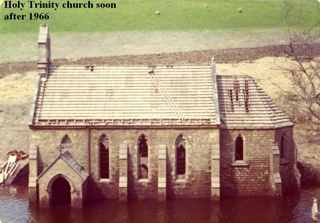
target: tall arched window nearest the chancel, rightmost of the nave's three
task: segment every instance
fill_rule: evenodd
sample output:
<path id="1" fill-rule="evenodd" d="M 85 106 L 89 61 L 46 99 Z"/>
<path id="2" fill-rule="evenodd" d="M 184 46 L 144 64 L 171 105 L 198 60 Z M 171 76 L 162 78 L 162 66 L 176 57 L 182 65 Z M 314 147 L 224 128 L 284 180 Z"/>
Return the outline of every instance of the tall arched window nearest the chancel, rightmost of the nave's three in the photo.
<path id="1" fill-rule="evenodd" d="M 178 178 L 186 174 L 186 145 L 182 134 L 176 139 L 176 173 Z"/>

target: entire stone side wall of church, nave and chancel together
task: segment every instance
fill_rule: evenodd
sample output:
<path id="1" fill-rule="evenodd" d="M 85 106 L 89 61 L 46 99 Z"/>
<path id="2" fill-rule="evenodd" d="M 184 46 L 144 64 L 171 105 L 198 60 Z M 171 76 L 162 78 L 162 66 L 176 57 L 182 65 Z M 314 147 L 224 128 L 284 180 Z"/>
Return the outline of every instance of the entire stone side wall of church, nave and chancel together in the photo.
<path id="1" fill-rule="evenodd" d="M 287 135 L 285 159 L 280 159 L 279 165 L 282 191 L 287 192 L 299 188 L 300 179 L 295 168 L 293 127 L 276 130 L 34 129 L 31 130 L 30 144 L 38 147 L 38 174 L 40 174 L 56 159 L 59 154 L 57 146 L 67 134 L 71 143 L 65 149 L 90 175 L 87 185 L 87 196 L 90 200 L 119 199 L 121 196 L 123 199 L 162 200 L 164 197 L 174 199 L 274 196 L 270 166 L 272 145 L 281 145 L 284 133 Z M 103 134 L 107 136 L 109 142 L 108 179 L 99 177 L 99 138 Z M 139 179 L 138 176 L 138 139 L 142 134 L 148 142 L 147 179 Z M 180 134 L 183 135 L 186 149 L 186 173 L 182 177 L 176 174 L 175 141 Z M 234 142 L 239 134 L 244 140 L 242 163 L 235 162 L 234 159 Z M 119 159 L 121 145 L 127 148 L 126 159 L 123 161 Z M 162 148 L 162 154 L 159 154 L 159 148 Z M 160 161 L 159 157 L 162 157 L 163 161 Z M 163 165 L 166 167 L 163 168 L 166 169 L 165 173 L 159 169 Z M 122 182 L 119 180 L 120 177 Z M 119 187 L 121 184 L 125 187 Z M 43 187 L 39 189 L 43 190 Z"/>

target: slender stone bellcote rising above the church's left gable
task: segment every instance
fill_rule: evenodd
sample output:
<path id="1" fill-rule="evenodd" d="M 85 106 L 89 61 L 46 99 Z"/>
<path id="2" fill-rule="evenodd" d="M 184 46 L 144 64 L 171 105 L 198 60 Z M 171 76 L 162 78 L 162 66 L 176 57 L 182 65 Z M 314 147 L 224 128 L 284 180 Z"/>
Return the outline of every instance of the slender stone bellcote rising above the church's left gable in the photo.
<path id="1" fill-rule="evenodd" d="M 41 24 L 38 39 L 38 74 L 47 77 L 51 61 L 49 26 Z"/>

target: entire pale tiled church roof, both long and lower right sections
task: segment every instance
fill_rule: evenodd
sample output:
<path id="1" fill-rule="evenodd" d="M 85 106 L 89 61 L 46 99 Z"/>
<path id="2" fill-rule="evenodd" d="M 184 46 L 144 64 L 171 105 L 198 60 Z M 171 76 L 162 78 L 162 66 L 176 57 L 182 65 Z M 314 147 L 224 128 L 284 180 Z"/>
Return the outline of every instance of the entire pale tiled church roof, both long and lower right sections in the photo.
<path id="1" fill-rule="evenodd" d="M 210 66 L 51 67 L 33 116 L 33 126 L 219 124 L 293 125 L 253 78 Z"/>

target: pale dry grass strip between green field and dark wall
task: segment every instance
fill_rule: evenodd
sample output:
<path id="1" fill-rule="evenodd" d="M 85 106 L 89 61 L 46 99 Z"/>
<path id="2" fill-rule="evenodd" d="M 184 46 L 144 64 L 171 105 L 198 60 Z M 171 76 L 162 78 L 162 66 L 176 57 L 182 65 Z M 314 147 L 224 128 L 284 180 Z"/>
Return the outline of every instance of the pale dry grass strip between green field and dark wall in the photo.
<path id="1" fill-rule="evenodd" d="M 50 26 L 51 29 L 51 26 Z M 0 63 L 37 60 L 38 32 L 0 35 Z M 285 44 L 281 30 L 51 32 L 52 59 Z M 210 58 L 213 55 L 210 56 Z"/>

